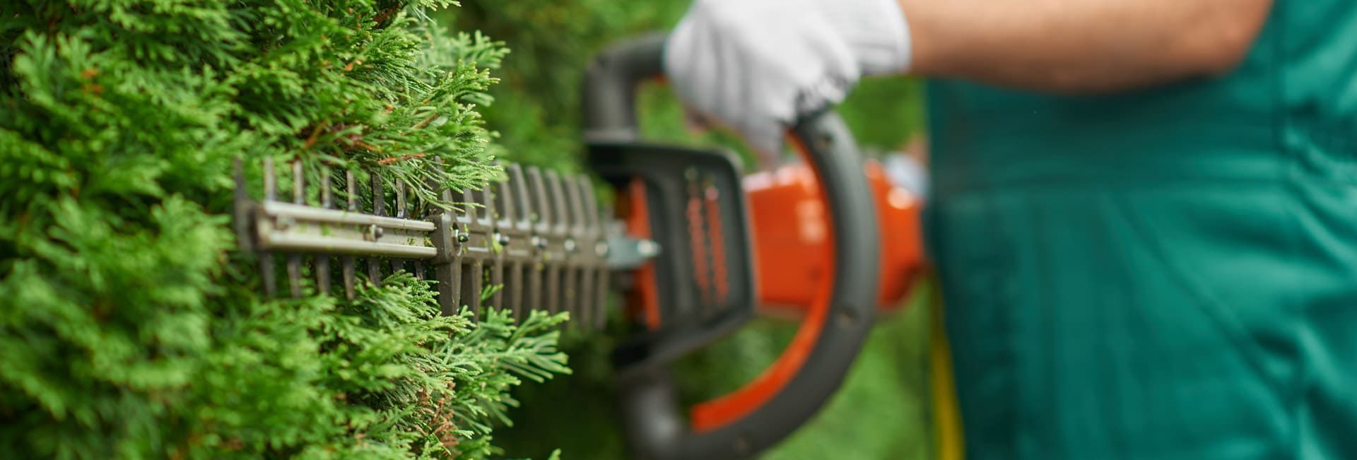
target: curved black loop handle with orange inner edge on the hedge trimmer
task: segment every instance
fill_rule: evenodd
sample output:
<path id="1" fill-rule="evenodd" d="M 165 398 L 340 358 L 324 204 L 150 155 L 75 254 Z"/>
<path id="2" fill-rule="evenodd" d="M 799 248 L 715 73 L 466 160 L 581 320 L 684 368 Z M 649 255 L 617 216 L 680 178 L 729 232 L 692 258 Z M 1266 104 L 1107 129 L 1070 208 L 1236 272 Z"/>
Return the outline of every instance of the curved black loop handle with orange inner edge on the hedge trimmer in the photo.
<path id="1" fill-rule="evenodd" d="M 635 94 L 664 75 L 664 34 L 616 45 L 586 71 L 586 140 L 636 141 Z M 820 180 L 830 217 L 832 284 L 806 309 L 795 338 L 759 379 L 699 404 L 684 421 L 668 362 L 619 369 L 620 408 L 638 459 L 740 459 L 776 444 L 807 421 L 843 383 L 875 309 L 878 227 L 863 159 L 833 111 L 803 117 L 791 133 Z M 752 250 L 752 248 L 746 248 Z"/>

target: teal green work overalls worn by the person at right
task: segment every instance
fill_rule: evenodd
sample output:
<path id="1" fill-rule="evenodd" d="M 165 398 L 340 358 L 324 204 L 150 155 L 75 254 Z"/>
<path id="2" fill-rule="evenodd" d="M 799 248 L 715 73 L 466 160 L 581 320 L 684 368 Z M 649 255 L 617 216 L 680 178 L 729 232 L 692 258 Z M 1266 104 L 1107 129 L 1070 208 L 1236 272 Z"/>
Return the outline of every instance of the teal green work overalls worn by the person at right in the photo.
<path id="1" fill-rule="evenodd" d="M 1219 79 L 930 107 L 969 459 L 1357 459 L 1357 3 Z"/>

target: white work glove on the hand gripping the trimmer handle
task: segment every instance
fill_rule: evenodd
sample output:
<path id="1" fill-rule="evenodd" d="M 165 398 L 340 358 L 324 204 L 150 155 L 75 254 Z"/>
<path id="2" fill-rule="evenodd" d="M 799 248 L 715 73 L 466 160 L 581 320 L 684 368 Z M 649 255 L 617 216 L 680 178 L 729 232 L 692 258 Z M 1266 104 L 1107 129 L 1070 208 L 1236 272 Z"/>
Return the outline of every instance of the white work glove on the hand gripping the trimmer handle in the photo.
<path id="1" fill-rule="evenodd" d="M 908 71 L 909 52 L 896 0 L 695 0 L 665 72 L 696 121 L 737 130 L 773 167 L 798 117 L 862 76 Z"/>

